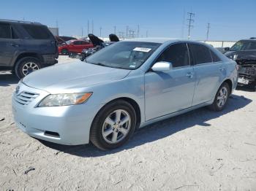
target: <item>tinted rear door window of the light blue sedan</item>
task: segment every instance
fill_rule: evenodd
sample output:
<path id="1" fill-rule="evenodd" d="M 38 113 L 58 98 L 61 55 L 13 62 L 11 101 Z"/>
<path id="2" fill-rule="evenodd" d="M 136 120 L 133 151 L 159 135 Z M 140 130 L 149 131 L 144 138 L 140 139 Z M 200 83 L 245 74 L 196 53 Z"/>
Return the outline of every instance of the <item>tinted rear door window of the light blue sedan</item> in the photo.
<path id="1" fill-rule="evenodd" d="M 190 44 L 193 57 L 195 59 L 195 64 L 200 63 L 211 63 L 211 52 L 208 47 L 205 47 L 200 44 Z"/>

